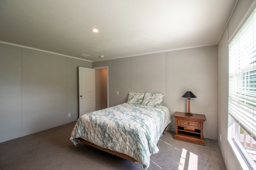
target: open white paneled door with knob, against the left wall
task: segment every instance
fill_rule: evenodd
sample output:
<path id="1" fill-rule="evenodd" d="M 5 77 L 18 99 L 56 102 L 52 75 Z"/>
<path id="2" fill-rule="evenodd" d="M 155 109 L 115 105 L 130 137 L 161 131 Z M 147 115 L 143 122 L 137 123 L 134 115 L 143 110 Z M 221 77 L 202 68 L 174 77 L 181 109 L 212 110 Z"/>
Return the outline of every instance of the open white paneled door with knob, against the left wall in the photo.
<path id="1" fill-rule="evenodd" d="M 95 70 L 78 68 L 79 76 L 79 117 L 95 111 Z"/>

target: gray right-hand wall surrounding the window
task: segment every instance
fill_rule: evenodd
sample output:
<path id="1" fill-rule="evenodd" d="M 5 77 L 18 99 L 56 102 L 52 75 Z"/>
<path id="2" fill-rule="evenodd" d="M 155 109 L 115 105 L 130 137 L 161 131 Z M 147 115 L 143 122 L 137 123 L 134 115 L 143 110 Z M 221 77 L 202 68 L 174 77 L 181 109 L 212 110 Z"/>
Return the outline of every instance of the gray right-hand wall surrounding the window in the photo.
<path id="1" fill-rule="evenodd" d="M 253 0 L 239 0 L 218 43 L 217 141 L 227 170 L 242 169 L 228 141 L 228 40 L 239 30 L 242 18 Z M 222 141 L 220 141 L 220 135 Z"/>

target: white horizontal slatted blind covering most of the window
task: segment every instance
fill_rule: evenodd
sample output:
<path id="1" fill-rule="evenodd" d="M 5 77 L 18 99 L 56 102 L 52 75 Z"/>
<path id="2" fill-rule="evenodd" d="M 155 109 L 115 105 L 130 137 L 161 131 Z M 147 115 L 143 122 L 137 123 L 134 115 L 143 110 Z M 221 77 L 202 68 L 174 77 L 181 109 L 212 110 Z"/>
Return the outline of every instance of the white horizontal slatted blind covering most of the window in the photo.
<path id="1" fill-rule="evenodd" d="M 229 44 L 229 114 L 256 139 L 255 10 Z"/>

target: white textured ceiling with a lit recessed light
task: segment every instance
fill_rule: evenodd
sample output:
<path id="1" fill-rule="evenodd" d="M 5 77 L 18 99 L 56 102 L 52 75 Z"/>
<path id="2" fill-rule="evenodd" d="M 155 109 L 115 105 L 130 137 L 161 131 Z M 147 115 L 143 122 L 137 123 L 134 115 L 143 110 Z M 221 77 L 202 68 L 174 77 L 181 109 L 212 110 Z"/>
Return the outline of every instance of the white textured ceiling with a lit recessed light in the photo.
<path id="1" fill-rule="evenodd" d="M 235 4 L 236 0 L 0 0 L 0 41 L 90 61 L 216 45 Z M 100 31 L 94 33 L 93 28 Z"/>

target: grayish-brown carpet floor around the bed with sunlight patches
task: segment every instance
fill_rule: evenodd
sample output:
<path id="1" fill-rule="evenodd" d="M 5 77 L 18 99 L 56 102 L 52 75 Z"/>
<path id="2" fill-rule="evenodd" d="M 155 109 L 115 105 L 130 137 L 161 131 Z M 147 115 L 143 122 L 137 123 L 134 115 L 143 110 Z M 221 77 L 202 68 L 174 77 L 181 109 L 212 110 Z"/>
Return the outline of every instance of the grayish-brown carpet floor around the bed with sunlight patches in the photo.
<path id="1" fill-rule="evenodd" d="M 0 143 L 1 170 L 143 170 L 84 143 L 69 140 L 75 122 Z M 148 170 L 225 170 L 216 140 L 205 146 L 174 140 L 166 131 L 158 141 L 159 152 L 150 156 Z"/>

